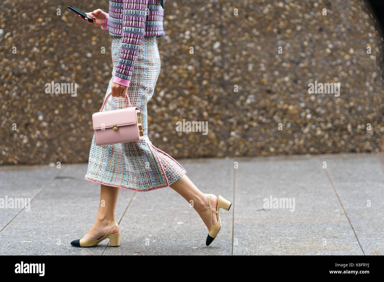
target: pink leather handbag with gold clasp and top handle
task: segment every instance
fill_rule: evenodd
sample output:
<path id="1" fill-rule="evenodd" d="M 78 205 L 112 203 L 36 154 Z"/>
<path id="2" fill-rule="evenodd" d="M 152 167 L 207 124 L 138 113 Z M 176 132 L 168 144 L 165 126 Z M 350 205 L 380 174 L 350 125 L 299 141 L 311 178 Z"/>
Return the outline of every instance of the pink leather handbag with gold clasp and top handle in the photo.
<path id="1" fill-rule="evenodd" d="M 96 144 L 108 145 L 142 140 L 144 137 L 139 108 L 131 107 L 131 101 L 126 95 L 125 108 L 106 111 L 106 103 L 111 95 L 112 93 L 109 93 L 105 98 L 100 111 L 92 115 Z"/>

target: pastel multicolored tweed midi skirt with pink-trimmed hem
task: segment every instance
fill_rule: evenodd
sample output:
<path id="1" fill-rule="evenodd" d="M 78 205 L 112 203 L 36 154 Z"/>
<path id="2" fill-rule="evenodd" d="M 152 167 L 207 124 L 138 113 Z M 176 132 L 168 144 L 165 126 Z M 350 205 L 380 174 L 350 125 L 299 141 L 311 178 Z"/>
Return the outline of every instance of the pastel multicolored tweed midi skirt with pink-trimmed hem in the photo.
<path id="1" fill-rule="evenodd" d="M 121 37 L 114 37 L 112 75 L 118 64 L 120 46 Z M 159 73 L 157 38 L 144 37 L 127 90 L 132 106 L 140 108 L 144 139 L 98 146 L 93 136 L 85 179 L 129 190 L 150 191 L 167 187 L 186 173 L 175 159 L 157 149 L 148 138 L 147 102 L 154 93 Z M 111 92 L 112 83 L 113 76 L 105 95 Z M 124 103 L 122 97 L 110 97 L 107 110 L 124 108 Z"/>

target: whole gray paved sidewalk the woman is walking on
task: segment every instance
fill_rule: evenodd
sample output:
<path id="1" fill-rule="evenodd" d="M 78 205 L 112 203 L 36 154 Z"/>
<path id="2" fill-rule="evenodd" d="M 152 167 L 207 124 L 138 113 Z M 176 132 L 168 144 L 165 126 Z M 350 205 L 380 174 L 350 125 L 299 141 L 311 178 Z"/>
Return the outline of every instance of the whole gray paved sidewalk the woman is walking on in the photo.
<path id="1" fill-rule="evenodd" d="M 234 162 L 238 168 L 234 168 Z M 323 168 L 326 162 L 326 169 Z M 384 169 L 379 154 L 181 160 L 205 193 L 232 200 L 211 246 L 199 216 L 169 187 L 121 189 L 121 245 L 76 248 L 94 222 L 99 185 L 86 164 L 0 167 L 0 198 L 31 198 L 30 210 L 0 208 L 2 255 L 383 255 Z M 293 208 L 264 199 L 295 200 Z M 291 210 L 291 211 L 290 211 Z"/>

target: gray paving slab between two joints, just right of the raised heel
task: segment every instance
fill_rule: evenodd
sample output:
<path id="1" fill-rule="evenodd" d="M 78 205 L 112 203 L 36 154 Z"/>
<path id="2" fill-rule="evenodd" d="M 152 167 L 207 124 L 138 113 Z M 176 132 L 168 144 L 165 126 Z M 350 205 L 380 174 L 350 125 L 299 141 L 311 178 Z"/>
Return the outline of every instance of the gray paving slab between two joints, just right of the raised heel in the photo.
<path id="1" fill-rule="evenodd" d="M 362 254 L 322 170 L 314 156 L 239 159 L 233 254 Z M 271 197 L 295 208 L 266 207 Z"/>

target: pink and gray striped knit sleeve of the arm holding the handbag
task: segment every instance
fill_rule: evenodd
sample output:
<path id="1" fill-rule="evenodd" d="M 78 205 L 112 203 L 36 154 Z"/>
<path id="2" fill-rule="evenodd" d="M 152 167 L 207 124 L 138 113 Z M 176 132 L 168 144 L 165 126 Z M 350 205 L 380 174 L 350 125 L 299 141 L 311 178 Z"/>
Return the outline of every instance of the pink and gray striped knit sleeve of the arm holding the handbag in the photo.
<path id="1" fill-rule="evenodd" d="M 121 49 L 113 82 L 129 86 L 144 37 L 148 0 L 124 0 Z"/>

